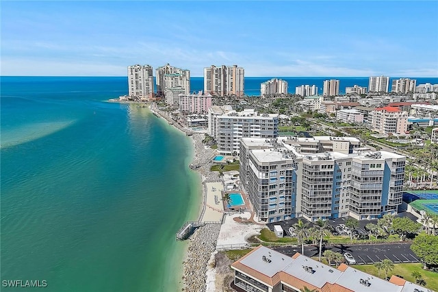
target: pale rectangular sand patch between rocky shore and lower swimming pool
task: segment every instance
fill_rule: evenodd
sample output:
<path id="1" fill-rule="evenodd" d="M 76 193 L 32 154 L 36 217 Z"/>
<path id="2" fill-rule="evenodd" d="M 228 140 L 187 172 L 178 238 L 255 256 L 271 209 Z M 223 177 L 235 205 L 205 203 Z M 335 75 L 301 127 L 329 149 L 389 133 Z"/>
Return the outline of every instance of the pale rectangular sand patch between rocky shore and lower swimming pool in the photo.
<path id="1" fill-rule="evenodd" d="M 224 204 L 222 202 L 222 191 L 224 186 L 222 183 L 205 183 L 207 191 L 205 212 L 201 222 L 207 221 L 222 221 L 224 215 Z"/>

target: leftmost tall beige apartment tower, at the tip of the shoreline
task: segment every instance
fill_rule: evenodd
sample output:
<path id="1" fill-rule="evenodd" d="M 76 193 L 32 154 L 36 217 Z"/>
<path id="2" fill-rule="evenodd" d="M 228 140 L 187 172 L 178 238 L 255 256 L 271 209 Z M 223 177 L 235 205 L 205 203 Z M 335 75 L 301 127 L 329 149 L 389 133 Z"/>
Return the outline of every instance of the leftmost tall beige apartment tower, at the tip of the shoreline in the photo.
<path id="1" fill-rule="evenodd" d="M 128 66 L 129 96 L 139 101 L 153 98 L 153 69 L 150 65 Z"/>

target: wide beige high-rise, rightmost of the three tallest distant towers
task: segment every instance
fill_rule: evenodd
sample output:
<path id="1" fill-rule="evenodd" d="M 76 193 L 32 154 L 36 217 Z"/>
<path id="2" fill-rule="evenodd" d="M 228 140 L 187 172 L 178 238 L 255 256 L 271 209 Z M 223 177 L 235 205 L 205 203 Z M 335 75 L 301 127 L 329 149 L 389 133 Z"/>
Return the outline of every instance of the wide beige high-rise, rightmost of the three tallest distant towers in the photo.
<path id="1" fill-rule="evenodd" d="M 204 92 L 218 96 L 244 96 L 244 75 L 244 68 L 237 65 L 205 67 Z"/>

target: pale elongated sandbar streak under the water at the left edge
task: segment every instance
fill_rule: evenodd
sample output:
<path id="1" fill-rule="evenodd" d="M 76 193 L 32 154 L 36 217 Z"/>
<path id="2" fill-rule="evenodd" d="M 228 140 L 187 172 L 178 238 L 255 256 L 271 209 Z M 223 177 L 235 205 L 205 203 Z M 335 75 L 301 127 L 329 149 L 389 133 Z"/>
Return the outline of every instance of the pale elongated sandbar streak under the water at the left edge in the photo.
<path id="1" fill-rule="evenodd" d="M 37 140 L 70 127 L 76 120 L 60 122 L 34 122 L 14 129 L 2 129 L 0 148 L 8 148 Z"/>

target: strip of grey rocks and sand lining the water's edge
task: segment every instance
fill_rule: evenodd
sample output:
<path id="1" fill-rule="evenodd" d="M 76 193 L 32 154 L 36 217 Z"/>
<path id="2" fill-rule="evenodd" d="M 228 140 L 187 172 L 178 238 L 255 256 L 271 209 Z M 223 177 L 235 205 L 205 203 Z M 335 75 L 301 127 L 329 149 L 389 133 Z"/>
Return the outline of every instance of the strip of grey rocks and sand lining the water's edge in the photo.
<path id="1" fill-rule="evenodd" d="M 200 176 L 201 189 L 198 191 L 198 194 L 201 194 L 201 204 L 198 204 L 197 208 L 197 221 L 201 221 L 203 220 L 207 204 L 205 183 L 222 182 L 218 174 L 209 171 L 215 150 L 205 148 L 201 136 L 203 133 L 197 133 L 181 126 L 181 124 L 170 118 L 165 112 L 154 107 L 153 104 L 151 104 L 150 109 L 155 116 L 164 118 L 170 126 L 190 137 L 192 141 L 193 152 L 190 169 Z M 207 270 L 211 255 L 216 251 L 216 243 L 221 226 L 222 224 L 205 224 L 205 226 L 197 228 L 192 237 L 190 237 L 188 244 L 184 247 L 183 265 L 181 265 L 181 272 L 179 273 L 181 279 L 179 291 L 206 291 Z"/>

